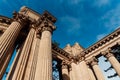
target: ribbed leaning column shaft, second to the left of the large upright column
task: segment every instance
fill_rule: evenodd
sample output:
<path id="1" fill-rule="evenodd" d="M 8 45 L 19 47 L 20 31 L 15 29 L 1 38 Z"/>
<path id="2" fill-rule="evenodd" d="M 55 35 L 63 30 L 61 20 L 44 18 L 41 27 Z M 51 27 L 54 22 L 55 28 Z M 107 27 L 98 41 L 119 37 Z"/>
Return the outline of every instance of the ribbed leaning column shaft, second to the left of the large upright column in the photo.
<path id="1" fill-rule="evenodd" d="M 13 74 L 12 80 L 23 80 L 24 78 L 24 74 L 25 74 L 25 70 L 26 70 L 26 66 L 28 63 L 28 58 L 31 50 L 31 45 L 34 38 L 34 33 L 35 33 L 35 29 L 31 28 L 26 38 L 26 41 L 24 43 L 23 49 L 21 51 L 21 55 L 19 57 L 17 66 L 15 68 L 15 72 L 14 74 L 11 73 Z"/>

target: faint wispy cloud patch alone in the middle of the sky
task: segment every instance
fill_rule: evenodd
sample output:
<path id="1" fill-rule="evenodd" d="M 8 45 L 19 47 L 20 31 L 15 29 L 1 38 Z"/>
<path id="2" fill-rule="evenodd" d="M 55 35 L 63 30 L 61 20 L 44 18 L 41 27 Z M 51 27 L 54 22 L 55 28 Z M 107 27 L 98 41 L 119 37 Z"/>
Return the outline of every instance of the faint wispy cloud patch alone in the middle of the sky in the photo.
<path id="1" fill-rule="evenodd" d="M 61 23 L 65 25 L 68 34 L 78 35 L 81 29 L 79 18 L 65 16 L 60 18 Z"/>

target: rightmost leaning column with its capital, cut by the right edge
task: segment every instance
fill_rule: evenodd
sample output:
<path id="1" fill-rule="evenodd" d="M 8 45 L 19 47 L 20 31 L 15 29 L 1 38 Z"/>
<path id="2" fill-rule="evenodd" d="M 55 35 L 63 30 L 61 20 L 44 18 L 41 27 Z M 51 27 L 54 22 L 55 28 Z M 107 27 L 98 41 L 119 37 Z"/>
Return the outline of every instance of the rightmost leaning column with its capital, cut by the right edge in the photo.
<path id="1" fill-rule="evenodd" d="M 108 50 L 107 52 L 102 52 L 102 54 L 108 59 L 108 61 L 111 63 L 117 74 L 120 76 L 120 63 L 114 57 L 112 52 Z"/>

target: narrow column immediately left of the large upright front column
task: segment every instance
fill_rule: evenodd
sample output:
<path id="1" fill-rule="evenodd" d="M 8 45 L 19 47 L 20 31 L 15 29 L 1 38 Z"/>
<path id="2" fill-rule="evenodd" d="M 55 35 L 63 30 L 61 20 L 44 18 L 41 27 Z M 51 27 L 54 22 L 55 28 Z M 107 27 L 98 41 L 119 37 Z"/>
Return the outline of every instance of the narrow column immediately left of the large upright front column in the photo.
<path id="1" fill-rule="evenodd" d="M 24 80 L 34 80 L 35 78 L 39 44 L 40 44 L 40 36 L 35 32 Z"/>

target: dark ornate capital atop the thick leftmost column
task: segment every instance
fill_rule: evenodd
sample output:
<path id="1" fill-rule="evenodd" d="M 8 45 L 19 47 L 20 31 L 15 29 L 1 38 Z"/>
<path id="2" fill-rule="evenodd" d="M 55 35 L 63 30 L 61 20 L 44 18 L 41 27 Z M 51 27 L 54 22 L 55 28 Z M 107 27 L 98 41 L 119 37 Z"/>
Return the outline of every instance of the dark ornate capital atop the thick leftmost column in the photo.
<path id="1" fill-rule="evenodd" d="M 24 16 L 23 14 L 17 13 L 16 11 L 13 12 L 13 21 L 18 21 L 20 24 L 25 25 L 26 22 L 29 21 L 28 17 Z"/>

